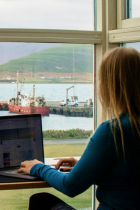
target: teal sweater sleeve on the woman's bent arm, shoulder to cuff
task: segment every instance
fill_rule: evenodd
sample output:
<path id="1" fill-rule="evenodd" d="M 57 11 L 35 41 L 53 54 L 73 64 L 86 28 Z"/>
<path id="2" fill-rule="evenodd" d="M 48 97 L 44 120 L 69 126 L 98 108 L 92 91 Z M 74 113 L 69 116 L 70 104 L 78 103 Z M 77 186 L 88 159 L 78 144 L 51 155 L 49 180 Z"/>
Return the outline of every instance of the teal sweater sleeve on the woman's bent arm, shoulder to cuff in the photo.
<path id="1" fill-rule="evenodd" d="M 114 158 L 115 145 L 109 122 L 105 122 L 91 137 L 83 155 L 69 174 L 45 164 L 34 165 L 30 174 L 45 180 L 58 191 L 74 197 L 96 184 Z"/>

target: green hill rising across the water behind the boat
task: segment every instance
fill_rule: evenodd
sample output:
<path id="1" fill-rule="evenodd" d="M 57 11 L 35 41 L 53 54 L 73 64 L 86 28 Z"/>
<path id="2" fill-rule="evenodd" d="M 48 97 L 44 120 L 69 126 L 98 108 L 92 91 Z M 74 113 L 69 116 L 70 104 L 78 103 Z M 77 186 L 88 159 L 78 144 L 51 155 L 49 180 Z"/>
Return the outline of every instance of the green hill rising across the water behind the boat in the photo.
<path id="1" fill-rule="evenodd" d="M 1 72 L 92 73 L 93 46 L 64 44 L 0 65 Z"/>

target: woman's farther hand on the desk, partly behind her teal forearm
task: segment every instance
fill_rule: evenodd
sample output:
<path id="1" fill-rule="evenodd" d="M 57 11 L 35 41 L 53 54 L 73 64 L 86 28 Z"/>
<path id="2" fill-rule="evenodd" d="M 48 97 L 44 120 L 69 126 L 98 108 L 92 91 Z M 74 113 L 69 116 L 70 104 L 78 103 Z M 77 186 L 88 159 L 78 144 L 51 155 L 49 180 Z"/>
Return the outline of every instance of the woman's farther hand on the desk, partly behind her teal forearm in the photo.
<path id="1" fill-rule="evenodd" d="M 59 169 L 60 166 L 70 166 L 70 167 L 73 167 L 73 166 L 77 163 L 77 161 L 78 161 L 78 160 L 75 159 L 75 158 L 73 158 L 73 157 L 71 157 L 71 158 L 61 158 L 61 159 L 57 162 L 55 168 L 56 168 L 56 169 Z"/>

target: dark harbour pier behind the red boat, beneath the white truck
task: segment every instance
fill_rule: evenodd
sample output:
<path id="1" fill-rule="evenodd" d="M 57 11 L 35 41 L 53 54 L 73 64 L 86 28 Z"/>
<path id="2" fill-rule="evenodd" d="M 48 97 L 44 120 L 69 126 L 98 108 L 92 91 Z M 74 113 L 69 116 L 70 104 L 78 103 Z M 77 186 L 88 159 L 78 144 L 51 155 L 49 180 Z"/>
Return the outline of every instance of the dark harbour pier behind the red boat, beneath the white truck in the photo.
<path id="1" fill-rule="evenodd" d="M 79 103 L 78 107 L 60 106 L 59 101 L 46 101 L 50 114 L 65 115 L 72 117 L 93 117 L 93 107 L 86 106 L 85 102 Z M 8 111 L 8 102 L 0 101 L 0 111 Z"/>

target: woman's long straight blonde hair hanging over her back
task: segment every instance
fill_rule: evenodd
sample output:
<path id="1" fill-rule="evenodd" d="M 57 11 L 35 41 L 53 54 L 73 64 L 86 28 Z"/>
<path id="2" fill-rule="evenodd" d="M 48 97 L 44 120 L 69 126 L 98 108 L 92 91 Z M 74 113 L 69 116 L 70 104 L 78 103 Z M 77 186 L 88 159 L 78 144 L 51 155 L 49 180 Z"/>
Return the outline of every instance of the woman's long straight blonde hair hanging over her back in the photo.
<path id="1" fill-rule="evenodd" d="M 125 154 L 120 113 L 128 115 L 132 128 L 140 137 L 140 53 L 137 50 L 117 47 L 104 55 L 99 67 L 99 99 L 103 119 L 108 116 L 111 120 L 115 144 L 116 126 L 112 124 L 119 124 Z"/>

